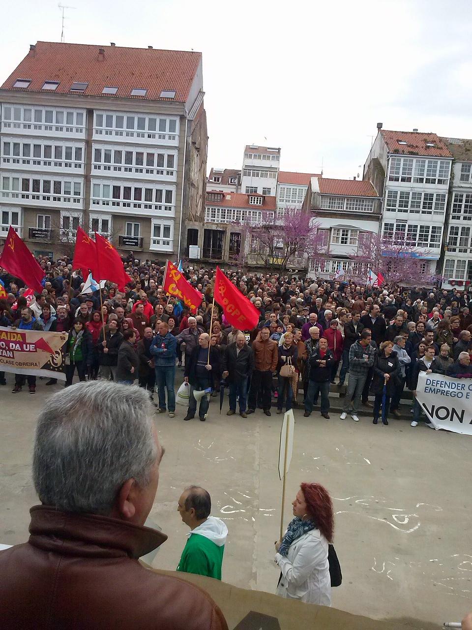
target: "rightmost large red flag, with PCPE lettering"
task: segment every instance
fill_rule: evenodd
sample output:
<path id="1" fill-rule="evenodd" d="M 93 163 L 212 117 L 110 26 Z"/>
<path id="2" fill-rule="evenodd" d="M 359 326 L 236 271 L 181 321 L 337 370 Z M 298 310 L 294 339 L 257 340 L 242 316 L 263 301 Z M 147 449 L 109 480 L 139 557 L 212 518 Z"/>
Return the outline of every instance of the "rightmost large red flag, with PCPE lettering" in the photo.
<path id="1" fill-rule="evenodd" d="M 216 267 L 215 301 L 223 307 L 225 318 L 239 330 L 252 330 L 259 321 L 259 311 L 236 289 L 220 267 Z"/>

